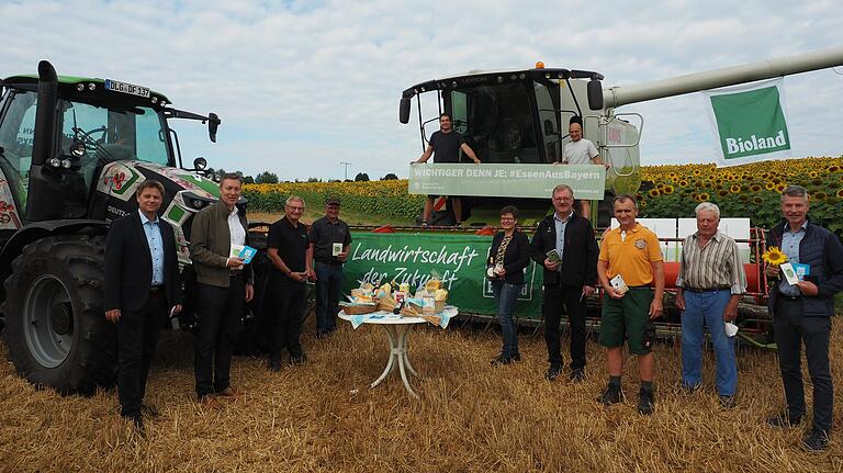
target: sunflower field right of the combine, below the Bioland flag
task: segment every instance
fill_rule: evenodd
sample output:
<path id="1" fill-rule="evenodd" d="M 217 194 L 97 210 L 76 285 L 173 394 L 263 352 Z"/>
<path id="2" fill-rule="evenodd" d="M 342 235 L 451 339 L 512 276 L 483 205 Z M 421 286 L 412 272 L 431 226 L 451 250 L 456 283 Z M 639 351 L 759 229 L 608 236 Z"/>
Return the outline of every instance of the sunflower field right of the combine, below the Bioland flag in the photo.
<path id="1" fill-rule="evenodd" d="M 762 161 L 731 168 L 715 165 L 641 168 L 638 202 L 647 217 L 690 216 L 700 202 L 720 206 L 722 217 L 749 216 L 769 228 L 782 219 L 782 191 L 799 184 L 810 194 L 810 217 L 843 234 L 843 157 Z"/>

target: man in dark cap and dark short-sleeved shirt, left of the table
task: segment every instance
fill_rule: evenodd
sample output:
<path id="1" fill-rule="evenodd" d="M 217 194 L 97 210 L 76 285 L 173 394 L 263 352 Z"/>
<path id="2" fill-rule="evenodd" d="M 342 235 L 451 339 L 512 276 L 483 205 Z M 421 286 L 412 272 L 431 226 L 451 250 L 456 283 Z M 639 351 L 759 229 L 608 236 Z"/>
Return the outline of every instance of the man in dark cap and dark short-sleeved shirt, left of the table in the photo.
<path id="1" fill-rule="evenodd" d="M 342 263 L 351 245 L 348 225 L 339 219 L 339 199 L 325 201 L 325 216 L 311 225 L 308 239 L 316 260 L 311 263 L 316 279 L 316 338 L 323 338 L 337 329 Z"/>

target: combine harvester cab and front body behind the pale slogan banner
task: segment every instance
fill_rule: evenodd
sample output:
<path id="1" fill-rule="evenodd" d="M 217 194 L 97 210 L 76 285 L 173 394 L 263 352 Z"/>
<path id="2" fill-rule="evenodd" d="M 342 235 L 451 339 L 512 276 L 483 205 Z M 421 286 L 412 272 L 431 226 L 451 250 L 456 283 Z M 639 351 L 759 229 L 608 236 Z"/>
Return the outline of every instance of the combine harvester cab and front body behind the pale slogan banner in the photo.
<path id="1" fill-rule="evenodd" d="M 415 98 L 423 150 L 439 127 L 439 115 L 448 113 L 454 131 L 464 136 L 484 165 L 505 165 L 506 169 L 529 172 L 539 169 L 535 165 L 561 161 L 562 150 L 571 140 L 569 123 L 577 116 L 583 123 L 583 137 L 594 143 L 605 162 L 611 162 L 604 185 L 608 192 L 605 196 L 610 201 L 615 193 L 638 190 L 639 126 L 643 121 L 638 114 L 616 115 L 604 109 L 602 79 L 598 72 L 551 69 L 539 63 L 533 69 L 470 72 L 430 80 L 403 92 L 400 120 L 409 122 Z M 431 110 L 436 111 L 432 116 Z M 471 161 L 463 158 L 463 162 Z M 469 225 L 495 225 L 497 211 L 505 204 L 515 204 L 524 213 L 521 223 L 531 226 L 552 212 L 550 193 L 538 189 L 539 185 L 537 182 L 533 193 L 547 193 L 541 199 L 501 195 L 492 193 L 492 189 L 470 195 L 453 189 L 449 194 L 463 195 L 463 216 Z M 603 200 L 604 195 L 598 199 Z M 438 204 L 441 209 L 441 202 Z M 610 209 L 605 204 L 593 206 L 593 213 L 597 212 L 597 225 L 607 226 Z M 432 223 L 452 224 L 453 216 L 439 212 Z"/>

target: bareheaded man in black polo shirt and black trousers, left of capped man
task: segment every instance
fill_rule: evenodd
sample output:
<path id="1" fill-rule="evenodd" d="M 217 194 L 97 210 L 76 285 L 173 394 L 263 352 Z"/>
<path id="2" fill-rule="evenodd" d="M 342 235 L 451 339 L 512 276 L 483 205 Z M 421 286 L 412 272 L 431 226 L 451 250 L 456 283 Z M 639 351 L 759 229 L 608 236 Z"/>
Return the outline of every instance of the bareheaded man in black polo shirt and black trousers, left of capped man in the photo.
<path id="1" fill-rule="evenodd" d="M 307 303 L 307 278 L 313 272 L 313 256 L 308 247 L 307 228 L 299 218 L 304 213 L 304 200 L 290 195 L 284 204 L 284 216 L 269 227 L 267 255 L 272 261 L 270 284 L 274 297 L 276 325 L 269 369 L 281 370 L 282 350 L 286 347 L 290 363 L 307 360 L 299 342 L 302 318 Z"/>

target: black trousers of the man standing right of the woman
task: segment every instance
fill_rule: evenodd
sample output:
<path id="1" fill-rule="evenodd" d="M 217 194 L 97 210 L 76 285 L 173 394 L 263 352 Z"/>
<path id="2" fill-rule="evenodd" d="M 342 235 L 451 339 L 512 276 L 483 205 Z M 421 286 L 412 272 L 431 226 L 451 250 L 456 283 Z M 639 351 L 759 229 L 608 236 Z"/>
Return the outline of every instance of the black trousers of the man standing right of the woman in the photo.
<path id="1" fill-rule="evenodd" d="M 546 285 L 541 302 L 544 317 L 544 342 L 548 345 L 548 361 L 551 367 L 562 367 L 559 323 L 564 306 L 571 327 L 571 369 L 585 368 L 585 297 L 582 288 Z"/>

